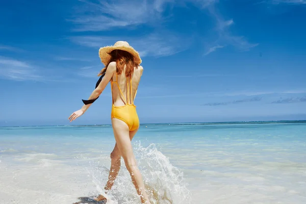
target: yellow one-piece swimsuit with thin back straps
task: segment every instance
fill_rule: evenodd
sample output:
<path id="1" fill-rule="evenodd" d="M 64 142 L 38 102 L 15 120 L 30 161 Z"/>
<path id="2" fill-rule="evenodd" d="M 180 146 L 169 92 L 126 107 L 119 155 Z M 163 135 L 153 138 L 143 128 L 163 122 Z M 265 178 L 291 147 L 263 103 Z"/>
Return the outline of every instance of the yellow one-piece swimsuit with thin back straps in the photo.
<path id="1" fill-rule="evenodd" d="M 113 107 L 112 107 L 112 114 L 111 117 L 112 118 L 118 118 L 120 120 L 122 120 L 123 122 L 125 122 L 127 124 L 127 126 L 129 126 L 129 130 L 130 131 L 135 131 L 138 129 L 139 127 L 139 118 L 136 112 L 136 106 L 134 105 L 134 99 L 136 97 L 136 93 L 134 96 L 134 99 L 132 101 L 132 78 L 130 80 L 130 90 L 129 90 L 129 82 L 126 80 L 126 89 L 127 89 L 127 96 L 130 97 L 130 101 L 131 104 L 127 103 L 127 98 L 126 100 L 124 99 L 124 95 L 119 87 L 118 84 L 118 74 L 116 74 L 116 82 L 113 81 L 113 79 L 111 80 L 111 89 L 113 92 L 113 86 L 114 84 L 117 84 L 118 89 L 121 93 L 122 96 L 122 100 L 124 102 L 124 106 L 114 106 L 114 98 L 113 98 Z"/>

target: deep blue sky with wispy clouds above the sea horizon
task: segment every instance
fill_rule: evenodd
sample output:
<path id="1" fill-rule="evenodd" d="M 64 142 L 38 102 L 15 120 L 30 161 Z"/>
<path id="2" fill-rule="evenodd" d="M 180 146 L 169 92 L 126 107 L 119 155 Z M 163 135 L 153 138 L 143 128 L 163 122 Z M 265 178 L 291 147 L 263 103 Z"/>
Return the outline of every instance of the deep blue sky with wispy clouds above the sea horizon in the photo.
<path id="1" fill-rule="evenodd" d="M 68 124 L 126 40 L 142 123 L 306 119 L 306 1 L 5 1 L 0 125 Z M 74 124 L 110 123 L 110 86 Z"/>

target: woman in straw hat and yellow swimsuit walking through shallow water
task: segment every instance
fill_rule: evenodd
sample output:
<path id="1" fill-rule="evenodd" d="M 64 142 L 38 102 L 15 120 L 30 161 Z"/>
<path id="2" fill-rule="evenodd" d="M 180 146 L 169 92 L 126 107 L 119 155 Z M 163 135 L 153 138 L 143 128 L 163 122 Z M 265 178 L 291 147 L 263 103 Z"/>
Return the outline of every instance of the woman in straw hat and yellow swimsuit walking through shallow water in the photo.
<path id="1" fill-rule="evenodd" d="M 111 112 L 112 126 L 116 144 L 111 153 L 111 168 L 108 182 L 105 186 L 106 193 L 109 191 L 118 175 L 121 156 L 125 166 L 129 170 L 137 193 L 142 203 L 150 203 L 145 192 L 141 173 L 136 165 L 131 140 L 139 128 L 139 119 L 134 105 L 138 84 L 143 68 L 140 56 L 136 50 L 125 41 L 118 41 L 114 46 L 106 46 L 99 49 L 101 62 L 105 68 L 99 73 L 101 78 L 96 89 L 91 93 L 88 100 L 83 100 L 84 106 L 69 116 L 70 122 L 80 117 L 87 111 L 90 105 L 103 92 L 111 82 L 113 106 Z M 104 77 L 103 77 L 104 76 Z M 99 195 L 95 200 L 105 200 Z"/>

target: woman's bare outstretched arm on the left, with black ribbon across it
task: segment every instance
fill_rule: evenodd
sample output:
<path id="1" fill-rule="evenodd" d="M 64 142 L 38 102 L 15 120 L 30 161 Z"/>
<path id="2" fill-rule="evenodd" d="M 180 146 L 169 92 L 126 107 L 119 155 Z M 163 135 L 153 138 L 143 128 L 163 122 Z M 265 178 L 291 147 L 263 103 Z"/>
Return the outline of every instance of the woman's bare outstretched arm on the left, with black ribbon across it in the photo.
<path id="1" fill-rule="evenodd" d="M 102 78 L 102 80 L 99 83 L 99 85 L 97 86 L 97 88 L 95 88 L 93 90 L 93 92 L 90 94 L 88 100 L 97 98 L 104 91 L 105 87 L 107 86 L 107 84 L 112 79 L 113 74 L 114 74 L 115 71 L 116 71 L 116 63 L 115 62 L 111 62 L 109 64 L 109 66 L 107 67 L 107 69 L 106 69 L 106 73 L 105 73 L 104 78 Z M 78 117 L 83 115 L 90 106 L 91 106 L 91 104 L 84 105 L 80 110 L 73 112 L 69 116 L 68 120 L 71 122 L 71 121 L 77 119 Z"/>

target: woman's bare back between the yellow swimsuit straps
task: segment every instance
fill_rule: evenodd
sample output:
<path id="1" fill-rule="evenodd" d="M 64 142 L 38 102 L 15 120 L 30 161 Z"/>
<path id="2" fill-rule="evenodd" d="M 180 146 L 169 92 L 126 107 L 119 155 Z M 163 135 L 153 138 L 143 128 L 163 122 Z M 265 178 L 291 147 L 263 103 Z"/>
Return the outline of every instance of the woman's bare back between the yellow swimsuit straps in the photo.
<path id="1" fill-rule="evenodd" d="M 118 86 L 120 87 L 122 91 L 122 95 L 124 98 L 122 98 L 122 95 L 120 94 L 120 90 L 118 89 L 117 85 L 113 86 L 112 89 L 112 95 L 113 95 L 113 104 L 114 106 L 124 106 L 125 101 L 127 101 L 127 104 L 133 104 L 134 98 L 137 93 L 138 85 L 140 82 L 140 78 L 142 75 L 143 68 L 142 66 L 138 66 L 137 68 L 134 68 L 134 73 L 132 75 L 132 84 L 130 84 L 130 78 L 125 77 L 125 66 L 124 69 L 122 70 L 121 74 L 118 74 L 115 72 L 112 77 L 112 81 L 116 82 Z M 130 87 L 132 85 L 132 94 L 130 92 Z M 127 89 L 127 86 L 129 86 L 129 89 Z M 131 96 L 131 97 L 130 97 Z"/>

